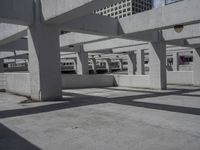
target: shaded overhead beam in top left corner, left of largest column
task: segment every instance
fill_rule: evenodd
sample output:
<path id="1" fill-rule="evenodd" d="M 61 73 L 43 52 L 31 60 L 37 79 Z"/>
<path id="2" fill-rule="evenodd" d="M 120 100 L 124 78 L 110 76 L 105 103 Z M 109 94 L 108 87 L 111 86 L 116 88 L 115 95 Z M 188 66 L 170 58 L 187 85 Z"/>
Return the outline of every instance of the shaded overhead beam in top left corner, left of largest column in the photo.
<path id="1" fill-rule="evenodd" d="M 0 22 L 19 25 L 33 23 L 34 0 L 1 0 Z"/>

